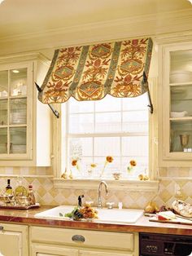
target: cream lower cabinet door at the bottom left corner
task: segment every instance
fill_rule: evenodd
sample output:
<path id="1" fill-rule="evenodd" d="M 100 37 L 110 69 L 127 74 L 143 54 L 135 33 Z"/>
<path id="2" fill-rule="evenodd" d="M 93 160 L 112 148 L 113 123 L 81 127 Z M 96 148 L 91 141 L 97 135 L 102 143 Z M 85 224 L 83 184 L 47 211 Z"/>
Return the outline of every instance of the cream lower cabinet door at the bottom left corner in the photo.
<path id="1" fill-rule="evenodd" d="M 28 226 L 0 223 L 0 253 L 28 256 Z"/>

